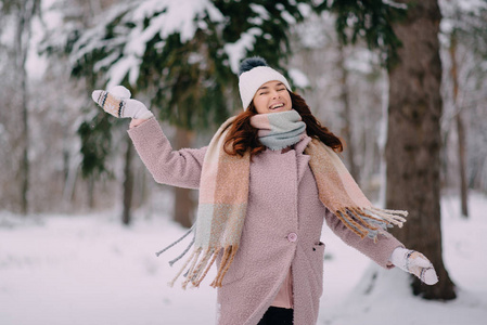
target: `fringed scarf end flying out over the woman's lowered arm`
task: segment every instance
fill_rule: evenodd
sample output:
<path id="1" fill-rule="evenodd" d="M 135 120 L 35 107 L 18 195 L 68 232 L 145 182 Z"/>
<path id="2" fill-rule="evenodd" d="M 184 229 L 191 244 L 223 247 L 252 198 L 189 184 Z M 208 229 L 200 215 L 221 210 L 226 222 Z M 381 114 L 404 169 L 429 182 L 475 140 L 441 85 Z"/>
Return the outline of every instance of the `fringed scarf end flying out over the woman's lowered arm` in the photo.
<path id="1" fill-rule="evenodd" d="M 377 235 L 393 224 L 402 227 L 407 211 L 387 210 L 375 207 L 358 208 L 346 207 L 335 211 L 335 216 L 360 238 L 368 236 L 377 242 Z"/>

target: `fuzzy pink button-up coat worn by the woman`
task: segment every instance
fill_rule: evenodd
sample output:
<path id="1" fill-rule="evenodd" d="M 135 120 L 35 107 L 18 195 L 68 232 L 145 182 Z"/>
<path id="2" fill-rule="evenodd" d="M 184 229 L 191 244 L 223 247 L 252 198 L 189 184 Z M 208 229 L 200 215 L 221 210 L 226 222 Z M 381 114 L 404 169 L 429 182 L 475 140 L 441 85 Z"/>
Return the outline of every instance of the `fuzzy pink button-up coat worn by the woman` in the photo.
<path id="1" fill-rule="evenodd" d="M 172 151 L 154 118 L 128 133 L 156 182 L 198 188 L 206 147 Z M 390 235 L 381 235 L 376 244 L 360 239 L 322 205 L 309 156 L 303 153 L 309 141 L 300 141 L 284 154 L 267 150 L 251 164 L 241 246 L 218 288 L 219 325 L 256 325 L 290 268 L 294 324 L 316 324 L 323 289 L 323 220 L 346 244 L 384 268 L 393 266 L 388 261 L 393 250 L 403 247 Z"/>

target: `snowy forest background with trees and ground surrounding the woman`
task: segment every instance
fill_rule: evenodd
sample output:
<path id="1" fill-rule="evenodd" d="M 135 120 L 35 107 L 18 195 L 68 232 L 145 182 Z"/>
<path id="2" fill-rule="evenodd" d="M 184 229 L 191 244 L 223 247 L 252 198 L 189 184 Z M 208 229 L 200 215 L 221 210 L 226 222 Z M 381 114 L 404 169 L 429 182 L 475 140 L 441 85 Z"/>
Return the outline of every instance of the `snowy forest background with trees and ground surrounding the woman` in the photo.
<path id="1" fill-rule="evenodd" d="M 175 150 L 202 147 L 254 55 L 367 196 L 409 211 L 392 232 L 439 276 L 382 270 L 324 225 L 318 324 L 485 324 L 486 0 L 1 0 L 0 324 L 215 323 L 216 290 L 168 287 L 154 255 L 197 191 L 156 183 L 91 92 L 123 84 Z"/>

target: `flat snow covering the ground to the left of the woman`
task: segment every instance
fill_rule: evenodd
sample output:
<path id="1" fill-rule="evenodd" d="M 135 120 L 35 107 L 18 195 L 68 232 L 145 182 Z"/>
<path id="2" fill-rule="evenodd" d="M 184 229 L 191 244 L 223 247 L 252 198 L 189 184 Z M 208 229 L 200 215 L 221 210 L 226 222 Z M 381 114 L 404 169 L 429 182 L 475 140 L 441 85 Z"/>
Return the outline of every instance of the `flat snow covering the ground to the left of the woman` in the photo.
<path id="1" fill-rule="evenodd" d="M 126 229 L 110 213 L 3 226 L 0 324 L 210 324 L 216 291 L 169 288 L 176 265 L 154 255 L 181 232 L 164 221 Z"/>

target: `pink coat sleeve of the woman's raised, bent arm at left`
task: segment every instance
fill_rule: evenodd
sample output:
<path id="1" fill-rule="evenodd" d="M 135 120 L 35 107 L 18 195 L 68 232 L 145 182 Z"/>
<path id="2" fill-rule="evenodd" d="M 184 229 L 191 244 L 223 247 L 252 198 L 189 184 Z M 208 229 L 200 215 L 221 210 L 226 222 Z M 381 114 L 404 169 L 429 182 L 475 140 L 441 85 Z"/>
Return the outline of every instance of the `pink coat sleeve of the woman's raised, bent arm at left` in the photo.
<path id="1" fill-rule="evenodd" d="M 172 151 L 154 117 L 131 128 L 128 134 L 156 182 L 178 187 L 200 187 L 206 147 Z"/>

